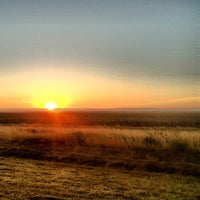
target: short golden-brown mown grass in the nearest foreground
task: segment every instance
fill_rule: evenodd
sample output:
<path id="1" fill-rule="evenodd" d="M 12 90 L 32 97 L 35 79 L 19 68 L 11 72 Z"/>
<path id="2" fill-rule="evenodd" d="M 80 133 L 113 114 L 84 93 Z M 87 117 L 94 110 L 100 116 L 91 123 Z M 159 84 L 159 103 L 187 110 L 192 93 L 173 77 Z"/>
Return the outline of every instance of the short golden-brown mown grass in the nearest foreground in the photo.
<path id="1" fill-rule="evenodd" d="M 2 200 L 198 200 L 199 179 L 60 162 L 0 158 Z"/>

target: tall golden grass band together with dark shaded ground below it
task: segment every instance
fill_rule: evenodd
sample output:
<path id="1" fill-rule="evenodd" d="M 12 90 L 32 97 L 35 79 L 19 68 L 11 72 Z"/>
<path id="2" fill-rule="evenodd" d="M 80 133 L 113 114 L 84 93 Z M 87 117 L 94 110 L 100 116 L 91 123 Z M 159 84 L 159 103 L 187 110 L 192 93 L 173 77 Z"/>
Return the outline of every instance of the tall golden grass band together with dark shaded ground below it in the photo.
<path id="1" fill-rule="evenodd" d="M 200 177 L 198 128 L 2 126 L 0 155 Z"/>

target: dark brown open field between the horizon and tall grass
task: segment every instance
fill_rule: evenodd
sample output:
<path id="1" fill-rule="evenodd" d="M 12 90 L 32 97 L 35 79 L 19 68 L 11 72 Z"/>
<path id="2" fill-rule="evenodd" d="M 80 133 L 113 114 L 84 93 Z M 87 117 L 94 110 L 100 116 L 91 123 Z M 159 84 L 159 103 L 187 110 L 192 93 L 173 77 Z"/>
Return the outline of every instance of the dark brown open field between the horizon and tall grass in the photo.
<path id="1" fill-rule="evenodd" d="M 200 112 L 22 112 L 0 113 L 0 124 L 61 124 L 108 127 L 195 127 L 200 128 Z"/>

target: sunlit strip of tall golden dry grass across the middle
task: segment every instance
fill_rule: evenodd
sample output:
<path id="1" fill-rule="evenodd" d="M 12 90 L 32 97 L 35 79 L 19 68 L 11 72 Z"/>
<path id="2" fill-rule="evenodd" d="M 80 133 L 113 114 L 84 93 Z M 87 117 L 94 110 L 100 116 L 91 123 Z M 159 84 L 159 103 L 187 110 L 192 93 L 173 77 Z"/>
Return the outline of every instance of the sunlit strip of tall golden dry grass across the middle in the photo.
<path id="1" fill-rule="evenodd" d="M 0 126 L 0 140 L 66 145 L 200 151 L 198 128 L 120 129 L 105 127 Z"/>

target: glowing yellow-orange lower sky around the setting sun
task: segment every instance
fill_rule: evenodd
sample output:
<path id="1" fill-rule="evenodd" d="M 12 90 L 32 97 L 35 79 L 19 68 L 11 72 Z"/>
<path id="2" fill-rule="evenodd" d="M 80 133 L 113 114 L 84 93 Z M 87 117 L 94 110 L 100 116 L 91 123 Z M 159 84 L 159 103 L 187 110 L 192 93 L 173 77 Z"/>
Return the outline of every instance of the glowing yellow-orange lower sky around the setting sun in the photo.
<path id="1" fill-rule="evenodd" d="M 171 79 L 116 79 L 105 74 L 66 69 L 61 64 L 35 64 L 1 76 L 0 108 L 44 108 L 49 101 L 60 108 L 158 107 L 198 108 L 191 85 Z M 77 65 L 77 63 L 76 63 Z"/>

